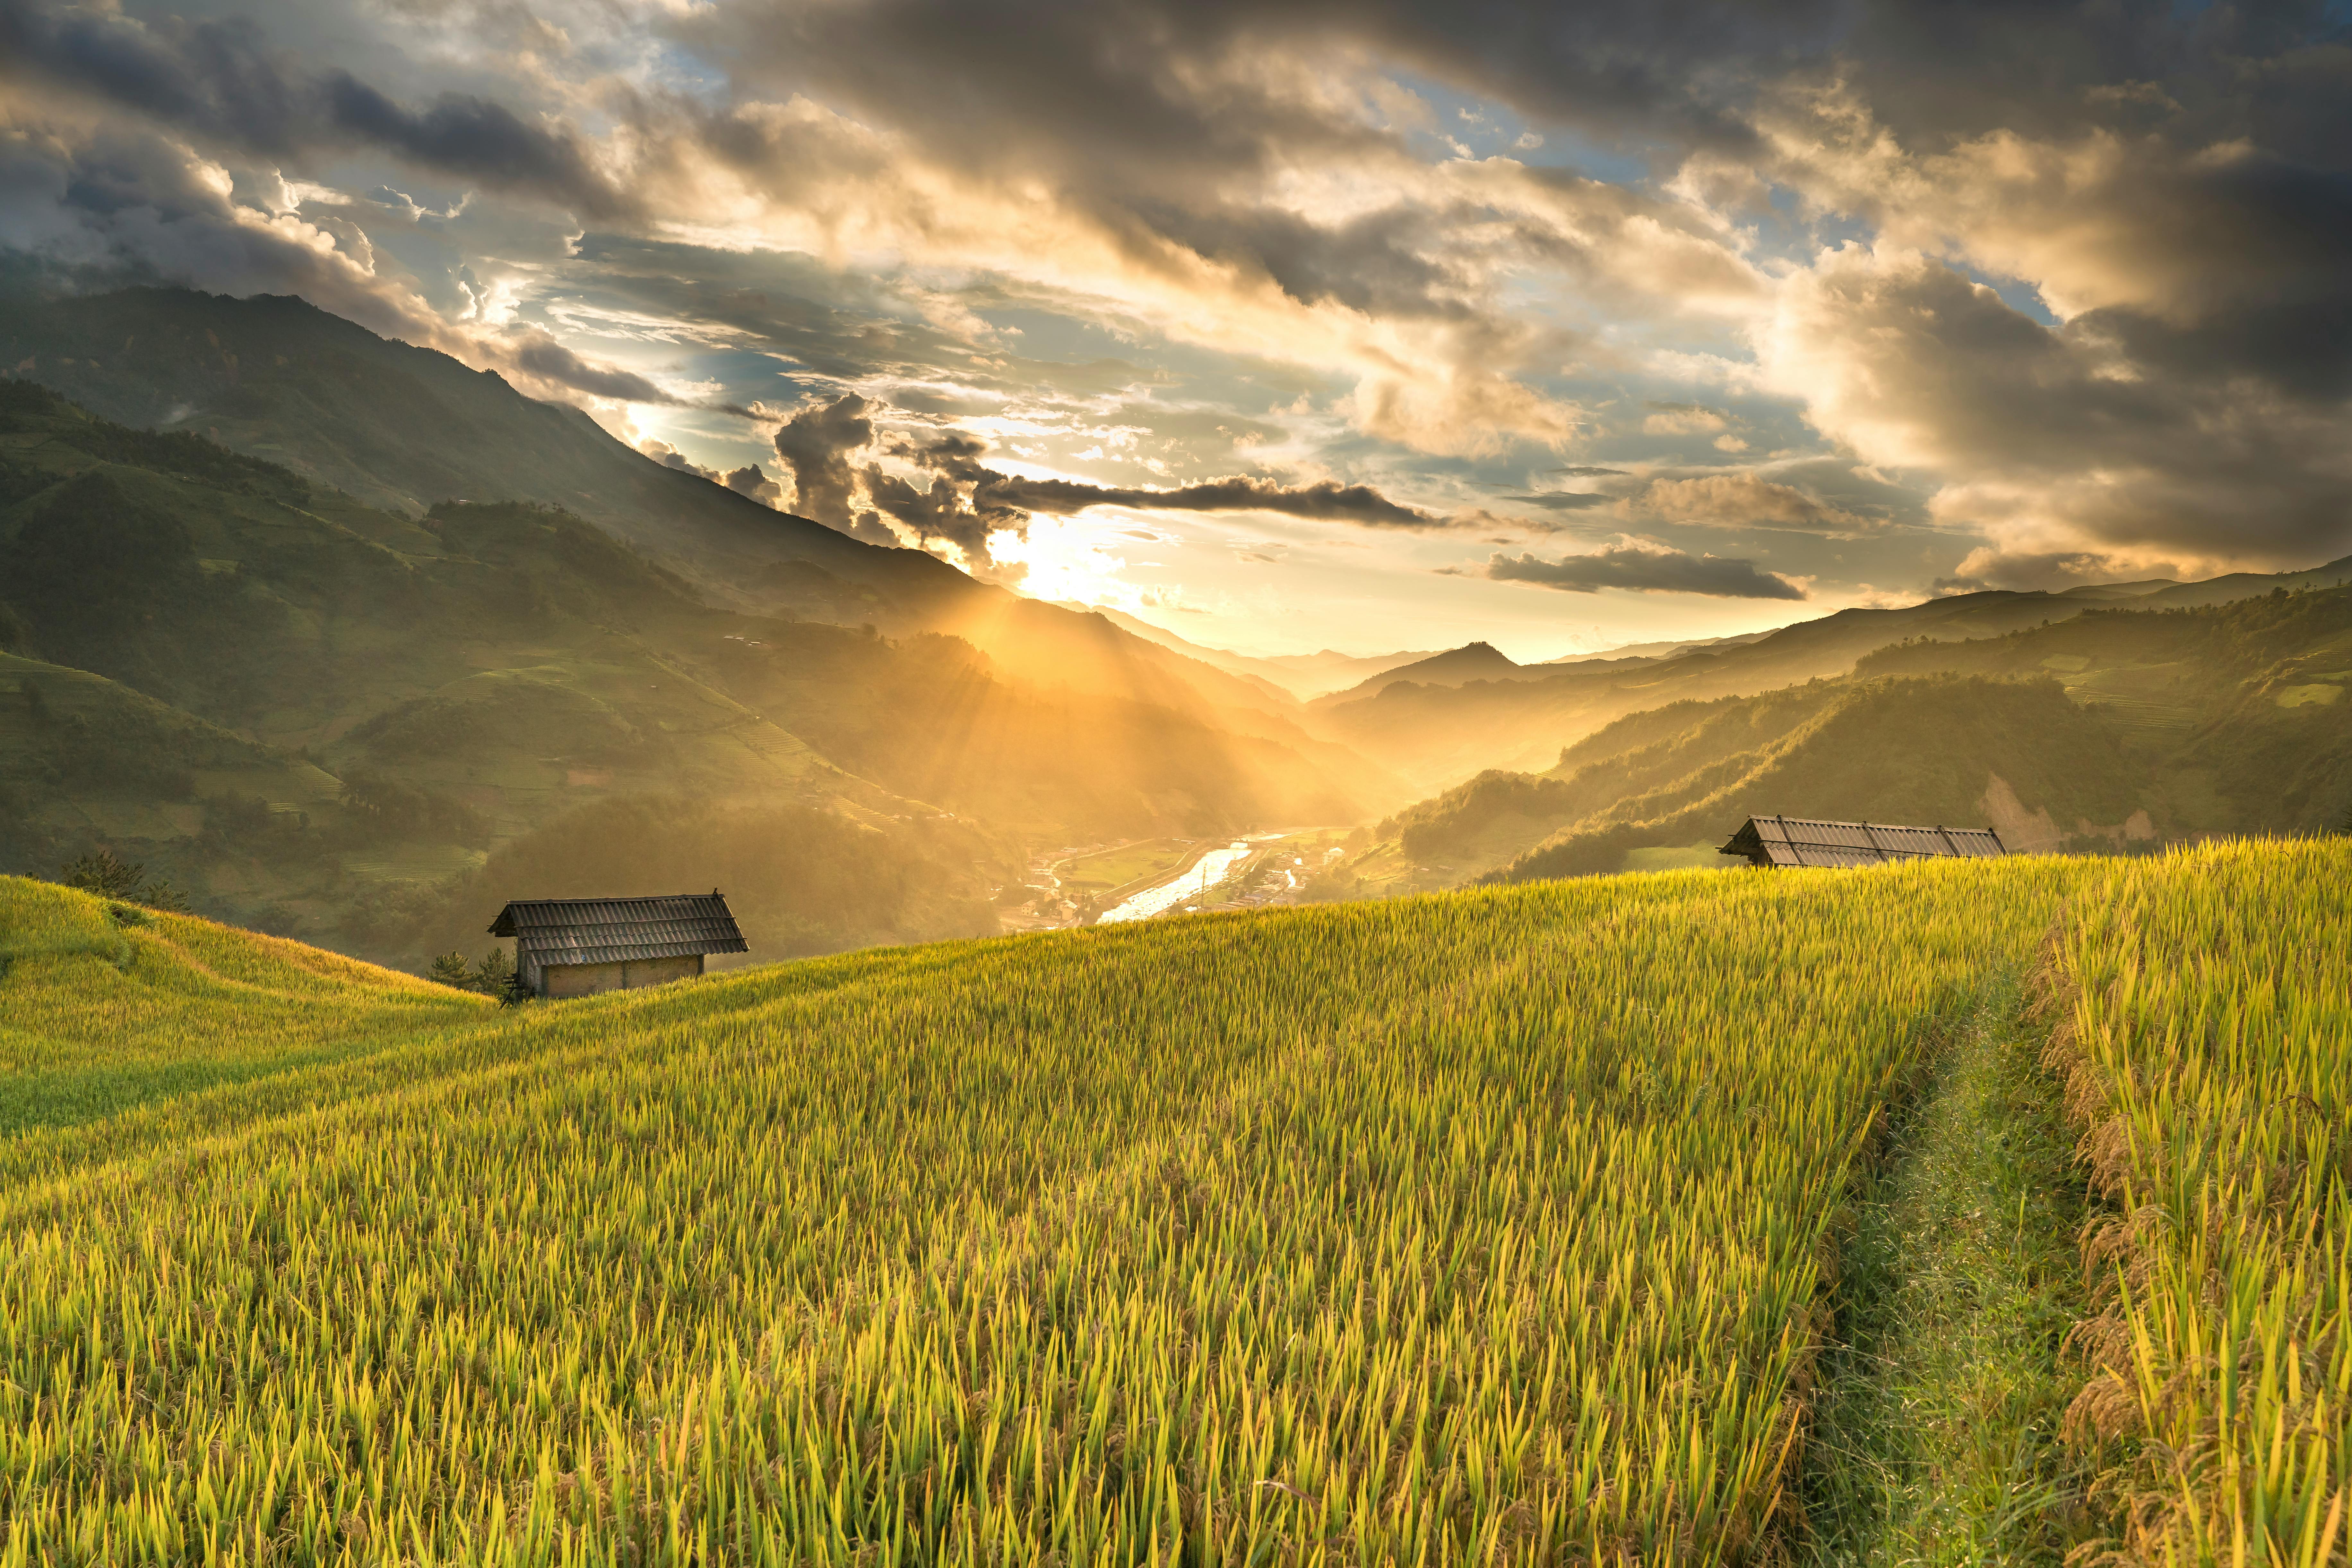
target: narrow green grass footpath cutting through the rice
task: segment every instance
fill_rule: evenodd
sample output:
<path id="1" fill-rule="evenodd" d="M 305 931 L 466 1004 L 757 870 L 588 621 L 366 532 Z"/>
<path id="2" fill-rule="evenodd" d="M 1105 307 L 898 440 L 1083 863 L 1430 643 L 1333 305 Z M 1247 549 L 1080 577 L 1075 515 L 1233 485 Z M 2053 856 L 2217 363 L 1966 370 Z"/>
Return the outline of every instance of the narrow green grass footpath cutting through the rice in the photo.
<path id="1" fill-rule="evenodd" d="M 1809 1443 L 1813 1563 L 2060 1563 L 2086 1533 L 2060 1446 L 2086 1314 L 2058 1086 L 2002 985 L 1891 1128 L 1839 1258 Z"/>

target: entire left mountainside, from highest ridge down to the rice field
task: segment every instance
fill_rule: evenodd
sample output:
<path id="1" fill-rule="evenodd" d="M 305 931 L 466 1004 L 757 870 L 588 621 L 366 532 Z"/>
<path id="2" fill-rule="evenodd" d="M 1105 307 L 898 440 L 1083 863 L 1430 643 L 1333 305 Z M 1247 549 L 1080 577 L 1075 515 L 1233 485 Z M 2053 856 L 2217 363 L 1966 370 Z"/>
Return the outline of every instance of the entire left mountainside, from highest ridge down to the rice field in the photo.
<path id="1" fill-rule="evenodd" d="M 9 320 L 24 376 L 115 411 L 216 402 L 230 423 L 143 430 L 31 378 L 0 388 L 12 865 L 120 846 L 200 907 L 414 961 L 480 933 L 501 865 L 543 867 L 550 896 L 668 886 L 684 835 L 689 886 L 788 842 L 797 870 L 750 898 L 774 954 L 993 929 L 988 896 L 1033 844 L 1352 820 L 1367 780 L 1399 795 L 1301 731 L 1287 693 L 661 468 L 308 306 L 132 292 L 47 310 L 64 324 L 31 313 L 33 348 L 28 313 Z M 82 336 L 127 320 L 122 364 L 92 367 Z M 266 350 L 285 322 L 320 341 Z M 362 355 L 390 367 L 374 421 L 334 414 L 381 369 Z M 595 520 L 567 494 L 423 503 L 402 489 L 419 444 L 355 428 L 412 414 L 494 430 L 517 489 L 553 473 L 532 461 L 546 437 L 637 498 Z M 736 548 L 769 550 L 781 585 L 736 571 Z M 694 827 L 614 863 L 616 802 Z"/>

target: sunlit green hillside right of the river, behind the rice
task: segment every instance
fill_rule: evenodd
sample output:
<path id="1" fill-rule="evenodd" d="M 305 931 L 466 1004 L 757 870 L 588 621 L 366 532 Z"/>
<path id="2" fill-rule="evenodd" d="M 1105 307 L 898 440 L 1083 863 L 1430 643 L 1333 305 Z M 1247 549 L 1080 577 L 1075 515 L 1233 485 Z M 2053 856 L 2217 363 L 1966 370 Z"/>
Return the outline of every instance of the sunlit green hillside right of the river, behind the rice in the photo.
<path id="1" fill-rule="evenodd" d="M 1755 811 L 1990 823 L 2013 849 L 2347 820 L 2352 588 L 2185 609 L 2145 597 L 2002 637 L 1900 642 L 1842 679 L 1632 712 L 1550 769 L 1489 771 L 1390 816 L 1331 891 L 1708 863 Z M 1889 677 L 1912 698 L 1886 696 Z"/>

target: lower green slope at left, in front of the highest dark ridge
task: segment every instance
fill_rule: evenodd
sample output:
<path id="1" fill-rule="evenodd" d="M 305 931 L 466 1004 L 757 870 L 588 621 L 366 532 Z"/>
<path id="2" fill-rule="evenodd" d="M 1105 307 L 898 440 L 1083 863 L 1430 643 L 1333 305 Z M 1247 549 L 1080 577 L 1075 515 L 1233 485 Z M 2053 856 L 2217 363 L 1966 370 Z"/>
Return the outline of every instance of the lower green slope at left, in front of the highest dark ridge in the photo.
<path id="1" fill-rule="evenodd" d="M 485 853 L 536 839 L 524 863 L 562 860 L 595 820 L 567 818 L 621 797 L 743 853 L 804 846 L 779 884 L 800 917 L 753 912 L 769 954 L 988 929 L 1018 837 L 1364 809 L 1336 748 L 1221 729 L 1150 663 L 1129 684 L 1178 708 L 1007 677 L 950 637 L 713 609 L 557 510 L 381 512 L 26 383 L 0 383 L 0 649 L 40 665 L 12 665 L 0 701 L 28 748 L 0 764 L 24 806 L 12 865 L 106 842 L 200 907 L 405 961 L 419 922 L 461 929 L 447 898 L 515 896 L 452 891 Z M 118 696 L 75 717 L 73 672 Z M 708 813 L 734 804 L 767 818 Z M 659 856 L 628 884 L 691 886 Z"/>

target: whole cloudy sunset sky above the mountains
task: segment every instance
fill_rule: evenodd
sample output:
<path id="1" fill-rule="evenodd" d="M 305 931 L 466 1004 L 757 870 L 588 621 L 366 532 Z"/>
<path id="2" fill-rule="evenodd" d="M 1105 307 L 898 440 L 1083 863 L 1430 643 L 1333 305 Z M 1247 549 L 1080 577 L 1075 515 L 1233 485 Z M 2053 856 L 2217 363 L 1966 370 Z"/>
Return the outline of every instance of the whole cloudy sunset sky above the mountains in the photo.
<path id="1" fill-rule="evenodd" d="M 0 0 L 0 252 L 1247 654 L 2352 552 L 2340 0 Z"/>

